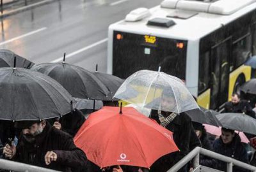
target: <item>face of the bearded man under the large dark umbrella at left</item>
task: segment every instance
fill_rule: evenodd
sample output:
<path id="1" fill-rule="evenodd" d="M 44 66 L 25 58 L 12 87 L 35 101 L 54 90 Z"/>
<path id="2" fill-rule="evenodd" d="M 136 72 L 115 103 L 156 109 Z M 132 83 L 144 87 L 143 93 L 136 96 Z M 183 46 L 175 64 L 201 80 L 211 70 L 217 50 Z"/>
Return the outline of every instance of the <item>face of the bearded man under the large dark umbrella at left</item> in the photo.
<path id="1" fill-rule="evenodd" d="M 44 130 L 44 122 L 33 124 L 28 129 L 22 129 L 22 134 L 28 142 L 35 141 L 35 137 Z"/>

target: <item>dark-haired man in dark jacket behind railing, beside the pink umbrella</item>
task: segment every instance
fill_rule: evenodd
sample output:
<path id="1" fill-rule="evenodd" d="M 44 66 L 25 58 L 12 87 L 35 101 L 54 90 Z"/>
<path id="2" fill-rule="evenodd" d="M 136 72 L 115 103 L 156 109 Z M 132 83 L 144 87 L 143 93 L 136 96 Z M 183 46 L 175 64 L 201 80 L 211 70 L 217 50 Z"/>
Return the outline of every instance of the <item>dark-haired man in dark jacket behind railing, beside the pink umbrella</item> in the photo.
<path id="1" fill-rule="evenodd" d="M 216 139 L 213 143 L 213 150 L 218 154 L 231 157 L 238 161 L 248 163 L 248 155 L 246 149 L 244 148 L 243 143 L 241 143 L 241 138 L 234 130 L 221 128 L 221 136 Z M 217 161 L 214 168 L 220 169 L 221 171 L 226 171 L 227 162 Z M 234 172 L 246 171 L 245 169 L 234 166 Z"/>

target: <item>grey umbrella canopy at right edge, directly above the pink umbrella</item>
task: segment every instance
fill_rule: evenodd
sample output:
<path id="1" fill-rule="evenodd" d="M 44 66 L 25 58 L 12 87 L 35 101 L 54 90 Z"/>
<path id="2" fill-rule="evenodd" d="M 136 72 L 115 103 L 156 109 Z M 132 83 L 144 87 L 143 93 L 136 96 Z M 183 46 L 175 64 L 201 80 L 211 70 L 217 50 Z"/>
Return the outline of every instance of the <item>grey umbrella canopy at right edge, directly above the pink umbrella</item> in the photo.
<path id="1" fill-rule="evenodd" d="M 223 127 L 256 134 L 256 119 L 243 113 L 220 113 L 216 115 Z"/>

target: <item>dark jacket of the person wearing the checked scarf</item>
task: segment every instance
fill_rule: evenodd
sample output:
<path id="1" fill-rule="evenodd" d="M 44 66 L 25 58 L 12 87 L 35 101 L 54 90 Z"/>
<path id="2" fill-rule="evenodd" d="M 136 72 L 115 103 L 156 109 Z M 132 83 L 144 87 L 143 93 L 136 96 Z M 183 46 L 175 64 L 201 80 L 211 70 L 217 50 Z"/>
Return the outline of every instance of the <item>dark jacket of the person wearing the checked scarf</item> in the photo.
<path id="1" fill-rule="evenodd" d="M 165 112 L 162 111 L 162 114 L 164 115 Z M 150 117 L 160 124 L 157 110 L 152 110 Z M 180 151 L 161 157 L 152 165 L 150 171 L 168 171 L 168 169 L 179 162 L 180 159 L 185 157 L 190 151 L 191 133 L 195 133 L 195 131 L 191 123 L 191 118 L 186 113 L 177 115 L 177 117 L 166 126 L 166 129 L 173 132 L 173 140 Z"/>

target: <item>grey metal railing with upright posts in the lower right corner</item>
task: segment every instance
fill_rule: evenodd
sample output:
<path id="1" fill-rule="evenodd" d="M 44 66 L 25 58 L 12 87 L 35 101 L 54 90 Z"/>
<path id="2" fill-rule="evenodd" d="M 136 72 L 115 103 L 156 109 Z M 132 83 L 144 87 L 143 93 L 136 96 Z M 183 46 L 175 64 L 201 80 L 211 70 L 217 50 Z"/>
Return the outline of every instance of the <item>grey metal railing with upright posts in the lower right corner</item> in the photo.
<path id="1" fill-rule="evenodd" d="M 172 168 L 168 170 L 168 172 L 178 171 L 184 165 L 188 164 L 189 161 L 193 159 L 193 167 L 196 168 L 199 166 L 199 155 L 205 155 L 207 157 L 212 157 L 214 159 L 218 159 L 220 161 L 227 162 L 227 172 L 232 172 L 233 166 L 239 166 L 240 168 L 249 169 L 250 171 L 256 172 L 256 167 L 246 164 L 241 161 L 237 161 L 236 159 L 232 159 L 230 157 L 226 157 L 225 155 L 217 154 L 216 152 L 212 152 L 210 150 L 206 150 L 204 148 L 196 147 L 188 155 L 186 155 L 183 159 L 181 159 L 177 164 L 175 164 Z"/>

